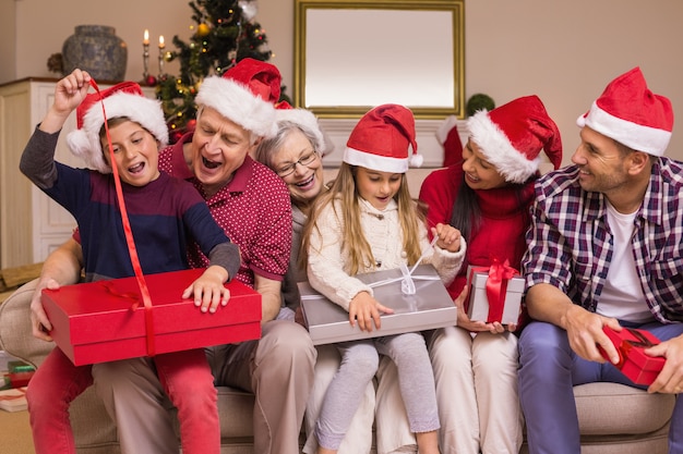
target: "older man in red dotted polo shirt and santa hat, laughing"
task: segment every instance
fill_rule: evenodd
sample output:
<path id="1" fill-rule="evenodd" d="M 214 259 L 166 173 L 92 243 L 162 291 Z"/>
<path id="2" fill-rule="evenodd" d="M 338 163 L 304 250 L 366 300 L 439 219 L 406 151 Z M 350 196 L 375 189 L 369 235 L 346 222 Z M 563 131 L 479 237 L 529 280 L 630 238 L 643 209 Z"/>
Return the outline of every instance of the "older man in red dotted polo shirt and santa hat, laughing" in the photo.
<path id="1" fill-rule="evenodd" d="M 255 394 L 255 452 L 295 454 L 313 384 L 315 348 L 290 309 L 281 307 L 280 284 L 291 247 L 289 192 L 281 179 L 250 157 L 276 132 L 279 86 L 277 69 L 252 59 L 223 77 L 206 78 L 196 97 L 195 131 L 161 150 L 159 169 L 191 181 L 204 196 L 218 224 L 240 247 L 236 279 L 263 296 L 261 340 L 207 349 L 216 383 Z M 80 250 L 71 242 L 57 254 L 75 265 Z M 207 265 L 195 246 L 189 256 L 194 267 Z M 40 287 L 50 277 L 63 284 L 73 271 L 48 259 Z M 37 306 L 34 331 L 38 321 L 49 323 Z M 168 398 L 148 358 L 95 365 L 93 377 L 124 453 L 178 453 Z"/>

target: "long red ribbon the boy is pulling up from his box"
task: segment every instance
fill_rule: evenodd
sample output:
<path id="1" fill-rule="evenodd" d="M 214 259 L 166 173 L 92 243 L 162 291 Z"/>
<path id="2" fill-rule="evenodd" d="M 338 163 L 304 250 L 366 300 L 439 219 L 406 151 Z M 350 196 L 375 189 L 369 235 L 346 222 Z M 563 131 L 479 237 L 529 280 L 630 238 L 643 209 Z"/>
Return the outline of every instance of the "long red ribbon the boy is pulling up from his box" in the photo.
<path id="1" fill-rule="evenodd" d="M 123 222 L 123 232 L 125 233 L 125 243 L 128 244 L 128 250 L 131 255 L 131 263 L 133 265 L 133 272 L 140 287 L 142 295 L 142 303 L 145 307 L 145 335 L 147 341 L 147 355 L 155 355 L 154 346 L 154 320 L 152 317 L 152 297 L 149 296 L 149 289 L 147 289 L 147 282 L 142 273 L 142 267 L 140 266 L 140 258 L 137 257 L 137 249 L 135 248 L 135 242 L 133 241 L 133 231 L 128 219 L 128 211 L 125 210 L 125 201 L 123 199 L 123 192 L 121 189 L 121 181 L 119 180 L 119 169 L 116 167 L 116 158 L 113 156 L 113 147 L 111 145 L 111 136 L 109 135 L 109 125 L 107 124 L 107 112 L 105 111 L 105 102 L 101 99 L 101 93 L 95 79 L 91 78 L 91 86 L 95 88 L 97 95 L 99 95 L 99 103 L 101 105 L 101 113 L 105 119 L 105 132 L 107 133 L 107 144 L 109 145 L 109 161 L 111 162 L 111 172 L 113 173 L 113 184 L 116 185 L 117 199 L 119 201 L 119 209 L 121 210 L 121 220 Z M 136 298 L 135 303 L 131 306 L 131 310 L 137 309 L 140 299 Z"/>

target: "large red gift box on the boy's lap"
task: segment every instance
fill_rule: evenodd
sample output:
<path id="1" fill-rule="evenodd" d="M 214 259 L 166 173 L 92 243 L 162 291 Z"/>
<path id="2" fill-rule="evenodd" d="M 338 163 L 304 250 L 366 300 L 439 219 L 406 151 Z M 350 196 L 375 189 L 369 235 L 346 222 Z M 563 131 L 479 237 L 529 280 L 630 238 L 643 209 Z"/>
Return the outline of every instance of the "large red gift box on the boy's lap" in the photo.
<path id="1" fill-rule="evenodd" d="M 145 275 L 155 334 L 261 320 L 261 295 L 238 281 L 225 284 L 230 299 L 214 314 L 201 312 L 192 298 L 181 298 L 183 290 L 203 272 L 190 269 Z M 132 309 L 135 303 L 139 305 Z M 146 332 L 145 308 L 134 277 L 46 289 L 43 304 L 50 309 L 52 326 L 64 327 L 59 335 L 68 335 L 73 345 L 139 338 Z"/>

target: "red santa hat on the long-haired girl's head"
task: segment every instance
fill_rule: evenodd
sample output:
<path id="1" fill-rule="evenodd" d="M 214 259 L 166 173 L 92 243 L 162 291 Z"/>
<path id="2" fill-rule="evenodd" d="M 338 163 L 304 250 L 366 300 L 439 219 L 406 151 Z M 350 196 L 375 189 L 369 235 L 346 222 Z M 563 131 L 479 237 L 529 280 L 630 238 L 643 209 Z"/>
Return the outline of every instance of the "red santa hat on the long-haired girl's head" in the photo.
<path id="1" fill-rule="evenodd" d="M 382 105 L 366 113 L 351 131 L 344 162 L 380 172 L 406 173 L 409 165 L 422 164 L 422 156 L 417 151 L 412 112 L 403 106 Z"/>

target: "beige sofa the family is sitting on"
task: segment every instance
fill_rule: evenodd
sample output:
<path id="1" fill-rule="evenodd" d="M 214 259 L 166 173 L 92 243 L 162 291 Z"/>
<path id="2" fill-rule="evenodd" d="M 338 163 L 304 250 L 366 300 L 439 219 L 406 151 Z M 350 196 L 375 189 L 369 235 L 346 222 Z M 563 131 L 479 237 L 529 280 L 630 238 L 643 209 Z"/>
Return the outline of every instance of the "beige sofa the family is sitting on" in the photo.
<path id="1" fill-rule="evenodd" d="M 0 348 L 40 367 L 53 345 L 36 340 L 31 333 L 31 297 L 36 282 L 24 284 L 0 304 Z M 675 400 L 673 395 L 648 394 L 615 383 L 576 386 L 574 394 L 580 422 L 582 453 L 667 452 L 667 433 Z M 223 454 L 254 454 L 253 405 L 250 393 L 225 386 L 218 389 Z M 93 389 L 72 404 L 71 421 L 79 453 L 120 452 L 116 427 Z M 522 453 L 527 452 L 524 445 Z"/>

